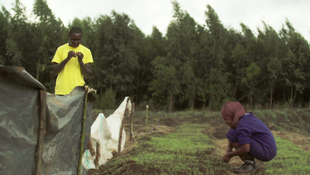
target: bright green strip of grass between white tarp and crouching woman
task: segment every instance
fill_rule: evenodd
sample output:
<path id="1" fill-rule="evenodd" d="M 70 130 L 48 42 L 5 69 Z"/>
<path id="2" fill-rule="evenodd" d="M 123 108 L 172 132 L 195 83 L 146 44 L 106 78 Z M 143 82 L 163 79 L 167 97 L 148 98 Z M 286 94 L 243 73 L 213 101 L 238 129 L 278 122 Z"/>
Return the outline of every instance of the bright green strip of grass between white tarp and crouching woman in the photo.
<path id="1" fill-rule="evenodd" d="M 111 174 L 222 174 L 227 164 L 221 163 L 220 157 L 213 153 L 215 146 L 201 132 L 204 128 L 189 123 L 179 126 L 174 133 L 143 137 L 144 141 L 122 159 L 114 159 L 104 166 L 116 169 Z M 145 169 L 131 169 L 126 162 Z M 120 164 L 123 168 L 118 168 Z"/>

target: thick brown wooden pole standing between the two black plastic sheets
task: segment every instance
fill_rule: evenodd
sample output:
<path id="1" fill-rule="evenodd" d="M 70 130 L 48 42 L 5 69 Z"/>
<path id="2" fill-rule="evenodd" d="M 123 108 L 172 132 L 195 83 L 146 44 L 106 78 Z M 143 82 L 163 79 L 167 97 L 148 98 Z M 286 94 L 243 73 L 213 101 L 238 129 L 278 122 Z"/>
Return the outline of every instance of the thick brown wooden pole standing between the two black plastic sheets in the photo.
<path id="1" fill-rule="evenodd" d="M 45 121 L 46 121 L 46 91 L 40 89 L 40 116 L 39 116 L 39 128 L 38 128 L 38 141 L 35 152 L 35 166 L 34 174 L 42 175 L 43 167 L 43 146 L 44 146 L 44 137 L 45 137 Z"/>

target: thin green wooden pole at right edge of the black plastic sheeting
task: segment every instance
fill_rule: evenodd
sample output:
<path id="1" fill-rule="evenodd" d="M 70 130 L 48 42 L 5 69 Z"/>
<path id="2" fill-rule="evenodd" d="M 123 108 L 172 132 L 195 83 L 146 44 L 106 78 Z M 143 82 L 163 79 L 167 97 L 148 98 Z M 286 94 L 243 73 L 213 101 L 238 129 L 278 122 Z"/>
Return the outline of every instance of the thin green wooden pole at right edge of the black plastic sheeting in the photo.
<path id="1" fill-rule="evenodd" d="M 84 107 L 83 107 L 83 116 L 82 116 L 82 132 L 81 132 L 81 141 L 80 141 L 80 155 L 78 159 L 78 175 L 81 175 L 82 172 L 82 156 L 83 156 L 83 148 L 84 148 L 84 136 L 85 136 L 85 120 L 86 120 L 86 108 L 87 108 L 87 93 L 86 89 L 85 97 L 84 97 Z"/>

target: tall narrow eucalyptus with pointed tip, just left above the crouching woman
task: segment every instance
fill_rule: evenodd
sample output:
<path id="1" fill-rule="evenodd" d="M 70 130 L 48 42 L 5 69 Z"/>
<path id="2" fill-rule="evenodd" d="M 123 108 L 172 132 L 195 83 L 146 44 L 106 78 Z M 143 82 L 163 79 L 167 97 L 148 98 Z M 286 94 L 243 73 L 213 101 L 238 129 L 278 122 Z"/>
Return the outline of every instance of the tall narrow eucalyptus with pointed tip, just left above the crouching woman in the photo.
<path id="1" fill-rule="evenodd" d="M 225 71 L 226 47 L 228 43 L 228 30 L 224 28 L 214 9 L 207 5 L 206 26 L 209 33 L 208 53 L 205 64 L 209 71 L 209 107 L 218 109 L 231 92 L 231 84 L 228 82 L 228 72 Z"/>

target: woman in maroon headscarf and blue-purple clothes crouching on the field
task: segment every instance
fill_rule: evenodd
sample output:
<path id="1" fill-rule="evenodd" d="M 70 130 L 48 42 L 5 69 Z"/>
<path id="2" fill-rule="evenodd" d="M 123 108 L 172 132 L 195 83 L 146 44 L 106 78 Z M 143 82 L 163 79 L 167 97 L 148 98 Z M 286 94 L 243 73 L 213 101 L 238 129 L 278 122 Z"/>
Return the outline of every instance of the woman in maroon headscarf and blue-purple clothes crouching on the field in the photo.
<path id="1" fill-rule="evenodd" d="M 234 168 L 235 173 L 250 173 L 257 169 L 254 158 L 267 162 L 276 156 L 277 144 L 270 130 L 239 102 L 226 102 L 221 114 L 230 126 L 226 134 L 228 147 L 222 162 L 228 163 L 233 156 L 239 156 L 244 162 L 241 167 Z"/>

